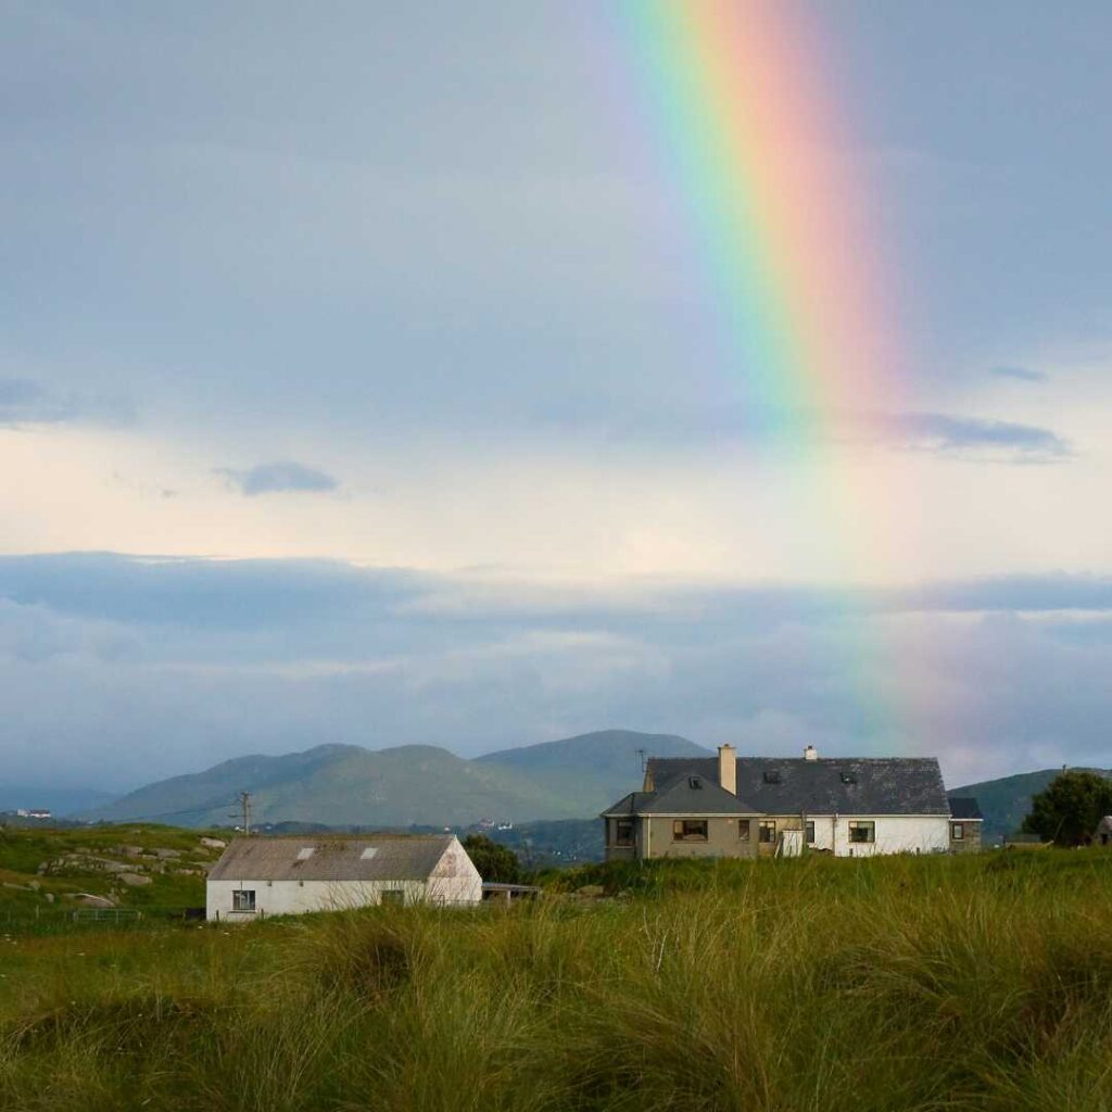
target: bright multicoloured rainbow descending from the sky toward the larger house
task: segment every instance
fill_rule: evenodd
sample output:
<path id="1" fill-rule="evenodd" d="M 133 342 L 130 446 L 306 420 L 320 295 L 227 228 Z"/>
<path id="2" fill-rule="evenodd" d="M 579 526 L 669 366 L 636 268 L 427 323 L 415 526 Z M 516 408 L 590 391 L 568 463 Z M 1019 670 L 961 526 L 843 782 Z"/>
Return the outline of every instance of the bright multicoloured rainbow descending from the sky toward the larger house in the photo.
<path id="1" fill-rule="evenodd" d="M 875 201 L 848 157 L 818 30 L 790 0 L 628 0 L 617 11 L 637 126 L 701 260 L 716 374 L 747 427 L 767 425 L 763 450 L 784 464 L 790 512 L 830 579 L 898 577 L 902 493 L 840 443 L 848 415 L 901 408 L 900 359 Z M 863 676 L 891 669 L 878 641 L 851 652 Z M 876 707 L 875 691 L 867 702 Z M 874 721 L 888 742 L 895 719 L 888 708 Z"/>

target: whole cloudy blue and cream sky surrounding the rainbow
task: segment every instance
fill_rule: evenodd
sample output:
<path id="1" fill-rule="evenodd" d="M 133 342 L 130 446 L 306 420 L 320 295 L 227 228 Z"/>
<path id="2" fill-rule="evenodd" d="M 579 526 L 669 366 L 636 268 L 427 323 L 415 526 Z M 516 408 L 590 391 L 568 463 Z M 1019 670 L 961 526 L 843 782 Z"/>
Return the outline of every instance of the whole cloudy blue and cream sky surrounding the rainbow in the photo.
<path id="1" fill-rule="evenodd" d="M 895 337 L 817 424 L 714 342 L 608 9 L 0 0 L 0 775 L 1112 764 L 1112 9 L 781 7 Z"/>

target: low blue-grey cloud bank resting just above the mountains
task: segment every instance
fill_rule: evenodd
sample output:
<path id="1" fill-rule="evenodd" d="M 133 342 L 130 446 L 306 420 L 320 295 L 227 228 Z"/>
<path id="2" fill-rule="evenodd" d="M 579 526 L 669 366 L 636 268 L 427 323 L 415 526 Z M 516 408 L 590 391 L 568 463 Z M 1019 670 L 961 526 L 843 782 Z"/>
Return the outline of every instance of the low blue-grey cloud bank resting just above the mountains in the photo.
<path id="1" fill-rule="evenodd" d="M 1110 619 L 1108 577 L 607 594 L 324 562 L 6 557 L 0 753 L 16 780 L 61 766 L 127 787 L 326 741 L 473 755 L 620 724 L 749 752 L 936 753 L 960 784 L 1108 762 Z"/>

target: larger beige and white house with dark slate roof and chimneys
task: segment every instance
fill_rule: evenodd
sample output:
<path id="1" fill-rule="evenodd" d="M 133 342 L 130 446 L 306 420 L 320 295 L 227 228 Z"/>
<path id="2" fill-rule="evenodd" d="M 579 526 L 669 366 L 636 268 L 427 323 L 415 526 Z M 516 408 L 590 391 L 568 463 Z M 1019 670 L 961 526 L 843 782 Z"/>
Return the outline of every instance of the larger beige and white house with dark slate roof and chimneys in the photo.
<path id="1" fill-rule="evenodd" d="M 609 861 L 838 857 L 980 847 L 981 813 L 955 815 L 934 757 L 653 757 L 642 791 L 602 815 Z M 974 838 L 973 835 L 976 835 Z"/>

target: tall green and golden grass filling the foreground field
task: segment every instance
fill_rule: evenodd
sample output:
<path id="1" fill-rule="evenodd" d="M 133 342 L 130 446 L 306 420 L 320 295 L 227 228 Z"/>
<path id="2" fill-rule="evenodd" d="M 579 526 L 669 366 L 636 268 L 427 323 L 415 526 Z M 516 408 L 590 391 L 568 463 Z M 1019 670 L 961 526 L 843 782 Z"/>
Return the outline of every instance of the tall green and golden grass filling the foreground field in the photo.
<path id="1" fill-rule="evenodd" d="M 556 883 L 3 941 L 0 1106 L 1112 1110 L 1112 854 Z"/>

